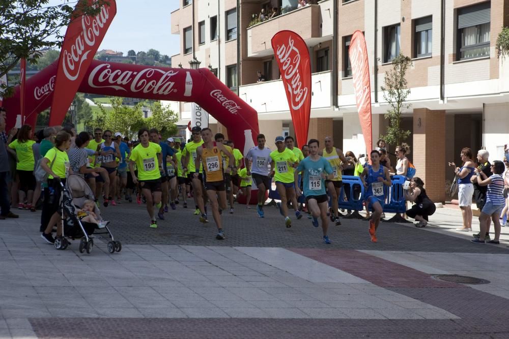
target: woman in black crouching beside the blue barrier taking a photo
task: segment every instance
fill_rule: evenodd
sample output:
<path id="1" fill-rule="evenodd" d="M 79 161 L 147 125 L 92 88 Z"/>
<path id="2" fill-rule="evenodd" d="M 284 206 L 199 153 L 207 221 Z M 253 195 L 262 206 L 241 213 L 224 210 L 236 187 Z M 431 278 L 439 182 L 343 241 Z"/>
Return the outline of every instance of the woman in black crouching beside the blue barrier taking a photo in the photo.
<path id="1" fill-rule="evenodd" d="M 410 188 L 404 191 L 404 195 L 406 200 L 415 203 L 412 208 L 406 211 L 406 214 L 418 221 L 415 227 L 426 227 L 428 217 L 435 213 L 436 207 L 426 194 L 424 182 L 418 177 L 413 177 L 410 180 Z"/>

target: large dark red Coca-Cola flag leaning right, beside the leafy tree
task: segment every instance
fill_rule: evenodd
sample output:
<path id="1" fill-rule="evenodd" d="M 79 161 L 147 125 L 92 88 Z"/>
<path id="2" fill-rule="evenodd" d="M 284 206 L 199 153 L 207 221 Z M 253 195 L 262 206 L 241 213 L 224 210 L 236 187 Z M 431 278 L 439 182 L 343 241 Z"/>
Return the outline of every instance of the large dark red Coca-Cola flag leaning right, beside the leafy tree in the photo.
<path id="1" fill-rule="evenodd" d="M 74 19 L 67 27 L 56 72 L 53 102 L 49 114 L 49 126 L 60 125 L 74 99 L 79 84 L 87 73 L 94 55 L 117 14 L 115 0 L 108 0 L 94 17 L 81 15 L 76 9 L 83 3 L 92 5 L 93 0 L 80 0 L 73 13 Z M 93 5 L 96 6 L 96 5 Z"/>

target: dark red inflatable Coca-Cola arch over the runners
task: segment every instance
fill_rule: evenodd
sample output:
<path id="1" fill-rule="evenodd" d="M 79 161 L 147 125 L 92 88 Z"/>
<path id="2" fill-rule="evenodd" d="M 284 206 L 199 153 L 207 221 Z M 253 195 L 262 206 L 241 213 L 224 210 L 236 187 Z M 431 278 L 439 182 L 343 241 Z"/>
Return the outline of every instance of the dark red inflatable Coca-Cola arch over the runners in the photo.
<path id="1" fill-rule="evenodd" d="M 25 124 L 35 126 L 37 114 L 53 99 L 58 61 L 26 80 Z M 257 112 L 208 69 L 150 67 L 93 60 L 78 91 L 127 98 L 195 102 L 228 130 L 228 137 L 246 154 L 259 133 Z M 19 86 L 4 100 L 7 126 L 19 113 Z M 244 146 L 242 146 L 244 145 Z M 239 148 L 240 148 L 239 147 Z"/>

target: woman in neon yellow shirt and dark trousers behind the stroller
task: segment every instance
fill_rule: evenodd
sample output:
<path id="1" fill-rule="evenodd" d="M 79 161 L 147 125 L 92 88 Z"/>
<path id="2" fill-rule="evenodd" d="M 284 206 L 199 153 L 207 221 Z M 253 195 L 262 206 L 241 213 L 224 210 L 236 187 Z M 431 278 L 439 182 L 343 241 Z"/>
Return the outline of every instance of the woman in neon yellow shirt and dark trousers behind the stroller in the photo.
<path id="1" fill-rule="evenodd" d="M 69 158 L 66 150 L 71 145 L 71 136 L 65 131 L 56 134 L 55 146 L 48 150 L 44 158 L 41 160 L 41 167 L 48 174 L 48 188 L 50 192 L 49 203 L 43 208 L 50 208 L 51 219 L 41 234 L 41 237 L 48 243 L 54 243 L 55 239 L 51 235 L 51 230 L 56 224 L 56 236 L 62 236 L 63 225 L 61 215 L 59 214 L 60 195 L 62 187 L 60 182 L 65 184 L 65 180 L 69 174 L 72 174 Z"/>

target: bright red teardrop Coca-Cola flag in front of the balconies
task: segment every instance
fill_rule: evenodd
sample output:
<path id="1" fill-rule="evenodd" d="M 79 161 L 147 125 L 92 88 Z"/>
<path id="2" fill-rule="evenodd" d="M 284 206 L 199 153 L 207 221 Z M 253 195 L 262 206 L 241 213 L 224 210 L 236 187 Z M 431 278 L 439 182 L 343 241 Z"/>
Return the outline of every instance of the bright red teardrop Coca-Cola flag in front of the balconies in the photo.
<path id="1" fill-rule="evenodd" d="M 299 147 L 307 143 L 311 114 L 311 64 L 304 40 L 291 30 L 277 32 L 271 40 L 292 115 Z"/>

